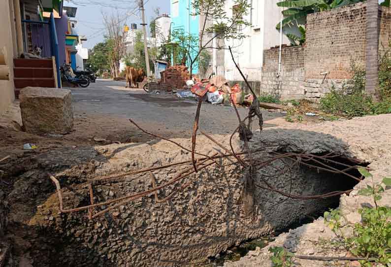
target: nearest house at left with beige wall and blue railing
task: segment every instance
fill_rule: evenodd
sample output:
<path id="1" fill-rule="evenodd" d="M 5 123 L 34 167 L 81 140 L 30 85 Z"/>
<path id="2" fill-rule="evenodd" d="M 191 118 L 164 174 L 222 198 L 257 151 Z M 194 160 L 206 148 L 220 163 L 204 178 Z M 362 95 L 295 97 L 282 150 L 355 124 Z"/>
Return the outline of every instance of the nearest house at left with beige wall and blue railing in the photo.
<path id="1" fill-rule="evenodd" d="M 57 34 L 55 24 L 61 18 L 59 14 L 62 14 L 62 8 L 63 0 L 0 1 L 0 114 L 15 99 L 18 89 L 29 85 L 39 86 L 42 81 L 35 77 L 18 77 L 20 66 L 15 65 L 15 59 L 33 51 L 36 46 L 41 48 L 43 57 L 49 58 L 47 61 L 53 59 L 59 62 L 59 44 L 53 43 L 53 36 Z M 17 63 L 23 67 L 29 66 L 20 60 Z M 15 72 L 15 69 L 18 71 Z M 53 70 L 51 77 L 43 81 L 46 87 L 61 86 L 57 73 L 59 71 Z"/>

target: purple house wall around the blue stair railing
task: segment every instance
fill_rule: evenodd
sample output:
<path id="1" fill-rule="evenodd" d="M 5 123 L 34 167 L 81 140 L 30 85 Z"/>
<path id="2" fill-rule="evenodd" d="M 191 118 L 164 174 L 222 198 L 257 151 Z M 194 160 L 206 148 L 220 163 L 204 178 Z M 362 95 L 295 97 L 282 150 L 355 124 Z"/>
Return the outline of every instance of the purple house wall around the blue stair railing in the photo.
<path id="1" fill-rule="evenodd" d="M 65 33 L 68 31 L 67 16 L 63 14 L 60 19 L 55 19 L 57 38 L 59 41 L 60 65 L 65 62 Z M 31 33 L 33 48 L 35 46 L 43 47 L 42 57 L 51 57 L 51 39 L 48 25 L 31 24 Z"/>

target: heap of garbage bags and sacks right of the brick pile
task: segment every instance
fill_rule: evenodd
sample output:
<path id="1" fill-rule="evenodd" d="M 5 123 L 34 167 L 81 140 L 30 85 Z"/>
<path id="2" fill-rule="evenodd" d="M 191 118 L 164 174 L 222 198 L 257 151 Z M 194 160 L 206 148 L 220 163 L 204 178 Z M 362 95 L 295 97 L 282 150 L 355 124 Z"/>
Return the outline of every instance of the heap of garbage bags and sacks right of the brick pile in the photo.
<path id="1" fill-rule="evenodd" d="M 223 76 L 215 76 L 211 79 L 188 80 L 186 86 L 190 90 L 181 90 L 176 93 L 178 98 L 199 98 L 207 95 L 207 101 L 211 104 L 230 105 L 251 105 L 252 94 L 245 94 L 239 84 L 230 87 L 228 81 Z"/>

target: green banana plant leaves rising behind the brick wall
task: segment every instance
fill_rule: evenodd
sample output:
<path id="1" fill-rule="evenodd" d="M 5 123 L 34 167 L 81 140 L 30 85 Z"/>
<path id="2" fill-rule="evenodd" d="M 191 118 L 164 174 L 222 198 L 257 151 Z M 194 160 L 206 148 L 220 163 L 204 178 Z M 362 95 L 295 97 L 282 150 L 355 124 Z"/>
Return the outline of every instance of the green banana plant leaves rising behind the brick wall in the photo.
<path id="1" fill-rule="evenodd" d="M 283 0 L 278 2 L 277 6 L 287 8 L 282 11 L 282 14 L 284 15 L 282 28 L 283 32 L 286 33 L 287 37 L 294 45 L 296 44 L 296 41 L 299 41 L 300 43 L 305 41 L 305 29 L 301 25 L 305 25 L 307 14 L 322 12 L 362 1 L 364 0 Z M 390 0 L 385 1 L 390 2 Z M 290 28 L 289 31 L 287 31 L 288 27 Z M 302 27 L 302 29 L 300 29 L 300 27 Z M 276 25 L 276 29 L 280 30 L 280 23 Z"/>

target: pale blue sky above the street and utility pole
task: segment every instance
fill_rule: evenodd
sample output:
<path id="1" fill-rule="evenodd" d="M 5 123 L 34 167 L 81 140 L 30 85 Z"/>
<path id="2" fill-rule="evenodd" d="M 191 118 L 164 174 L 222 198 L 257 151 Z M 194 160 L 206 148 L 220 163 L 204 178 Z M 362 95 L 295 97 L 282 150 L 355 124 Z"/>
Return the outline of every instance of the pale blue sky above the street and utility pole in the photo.
<path id="1" fill-rule="evenodd" d="M 130 27 L 131 23 L 137 24 L 137 29 L 141 28 L 141 15 L 136 0 L 65 0 L 64 6 L 75 6 L 77 31 L 79 35 L 87 36 L 87 41 L 83 46 L 93 48 L 95 44 L 103 40 L 104 25 L 102 11 L 106 14 L 127 13 L 124 16 L 124 25 Z M 145 19 L 147 24 L 151 17 L 155 16 L 154 9 L 159 8 L 160 14 L 170 12 L 170 0 L 144 0 Z M 132 15 L 132 14 L 135 15 Z M 149 30 L 148 30 L 149 33 Z"/>

